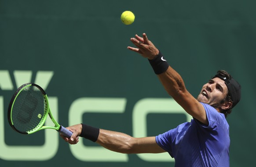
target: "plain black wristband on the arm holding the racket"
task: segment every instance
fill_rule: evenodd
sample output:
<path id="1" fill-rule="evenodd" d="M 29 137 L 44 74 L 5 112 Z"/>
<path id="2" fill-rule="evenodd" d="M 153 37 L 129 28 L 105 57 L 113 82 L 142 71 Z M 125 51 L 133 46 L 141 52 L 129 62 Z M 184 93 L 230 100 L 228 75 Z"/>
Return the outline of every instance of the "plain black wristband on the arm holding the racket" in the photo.
<path id="1" fill-rule="evenodd" d="M 99 128 L 94 128 L 86 124 L 82 124 L 81 137 L 96 142 L 99 137 Z"/>

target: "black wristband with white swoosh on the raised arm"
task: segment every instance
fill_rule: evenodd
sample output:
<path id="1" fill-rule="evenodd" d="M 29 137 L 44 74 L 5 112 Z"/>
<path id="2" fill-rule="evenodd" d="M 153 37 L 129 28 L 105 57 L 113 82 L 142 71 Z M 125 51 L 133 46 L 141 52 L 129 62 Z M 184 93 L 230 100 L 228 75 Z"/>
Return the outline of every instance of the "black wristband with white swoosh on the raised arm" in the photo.
<path id="1" fill-rule="evenodd" d="M 149 59 L 148 59 L 149 60 Z M 158 55 L 152 59 L 149 60 L 151 67 L 153 68 L 155 74 L 162 74 L 163 72 L 165 72 L 168 67 L 169 64 L 167 63 L 167 61 L 164 59 L 163 55 L 161 54 L 160 50 Z"/>

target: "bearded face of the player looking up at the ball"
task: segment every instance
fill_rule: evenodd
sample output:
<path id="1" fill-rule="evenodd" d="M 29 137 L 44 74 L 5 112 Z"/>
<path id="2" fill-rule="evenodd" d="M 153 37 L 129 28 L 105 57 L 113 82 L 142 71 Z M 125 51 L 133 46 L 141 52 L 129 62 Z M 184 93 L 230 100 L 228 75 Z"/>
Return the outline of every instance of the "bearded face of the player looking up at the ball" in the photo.
<path id="1" fill-rule="evenodd" d="M 209 80 L 208 83 L 203 85 L 197 100 L 202 103 L 209 104 L 214 108 L 220 107 L 223 103 L 223 99 L 227 96 L 227 85 L 225 82 L 216 77 Z"/>

